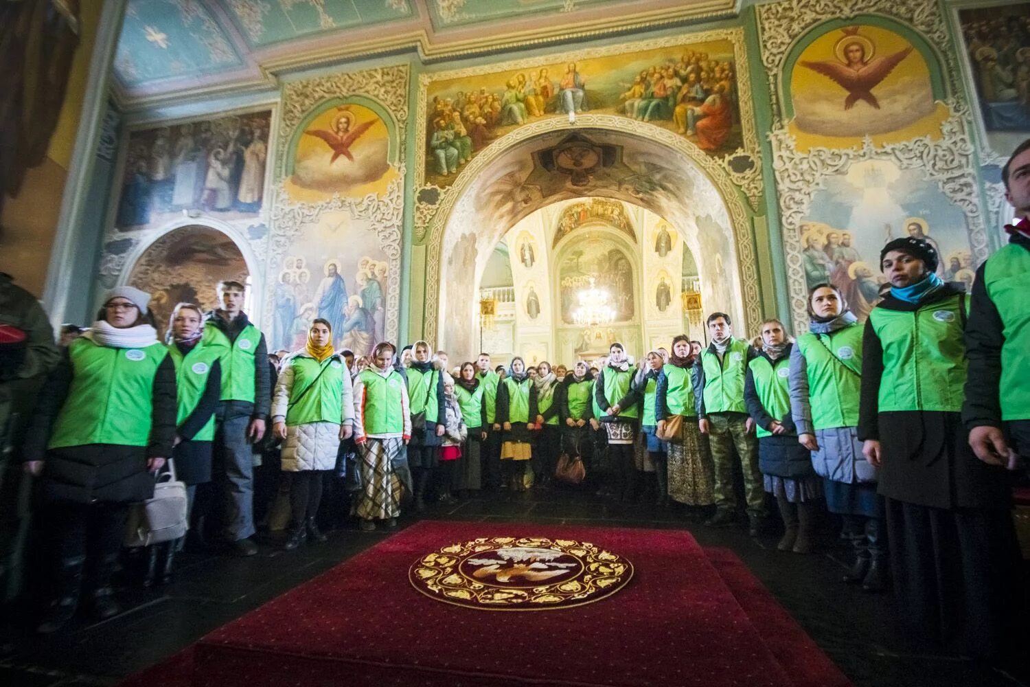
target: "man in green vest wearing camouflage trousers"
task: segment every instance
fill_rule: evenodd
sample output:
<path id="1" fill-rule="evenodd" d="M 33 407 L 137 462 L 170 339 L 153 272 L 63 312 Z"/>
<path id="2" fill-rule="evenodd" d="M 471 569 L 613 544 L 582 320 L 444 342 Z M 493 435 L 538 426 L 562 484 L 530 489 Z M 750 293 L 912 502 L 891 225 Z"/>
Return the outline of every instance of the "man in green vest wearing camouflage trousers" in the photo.
<path id="1" fill-rule="evenodd" d="M 701 434 L 709 435 L 715 462 L 716 512 L 705 524 L 723 527 L 736 520 L 733 487 L 733 449 L 741 458 L 748 505 L 748 534 L 757 537 L 765 519 L 765 491 L 758 469 L 758 440 L 754 420 L 744 403 L 744 379 L 755 351 L 744 339 L 733 338 L 729 315 L 714 312 L 708 318 L 712 343 L 694 366 L 694 404 Z"/>

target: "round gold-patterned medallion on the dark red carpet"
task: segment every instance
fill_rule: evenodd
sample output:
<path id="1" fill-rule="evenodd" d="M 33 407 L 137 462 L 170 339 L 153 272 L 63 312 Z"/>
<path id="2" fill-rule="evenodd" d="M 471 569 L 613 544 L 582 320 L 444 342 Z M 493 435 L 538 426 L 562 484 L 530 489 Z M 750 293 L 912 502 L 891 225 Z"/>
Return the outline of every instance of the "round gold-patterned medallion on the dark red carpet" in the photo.
<path id="1" fill-rule="evenodd" d="M 423 594 L 483 611 L 550 611 L 592 604 L 633 576 L 622 556 L 588 542 L 493 537 L 451 544 L 411 566 Z"/>

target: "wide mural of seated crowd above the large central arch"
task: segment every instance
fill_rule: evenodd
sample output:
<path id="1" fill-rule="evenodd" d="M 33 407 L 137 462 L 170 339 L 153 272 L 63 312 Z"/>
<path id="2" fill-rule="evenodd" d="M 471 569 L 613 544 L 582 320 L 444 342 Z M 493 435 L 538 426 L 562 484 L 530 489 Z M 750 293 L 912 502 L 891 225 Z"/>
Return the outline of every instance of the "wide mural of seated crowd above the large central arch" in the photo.
<path id="1" fill-rule="evenodd" d="M 735 60 L 729 40 L 710 40 L 431 81 L 425 181 L 449 185 L 490 141 L 584 111 L 650 122 L 712 154 L 734 150 Z"/>

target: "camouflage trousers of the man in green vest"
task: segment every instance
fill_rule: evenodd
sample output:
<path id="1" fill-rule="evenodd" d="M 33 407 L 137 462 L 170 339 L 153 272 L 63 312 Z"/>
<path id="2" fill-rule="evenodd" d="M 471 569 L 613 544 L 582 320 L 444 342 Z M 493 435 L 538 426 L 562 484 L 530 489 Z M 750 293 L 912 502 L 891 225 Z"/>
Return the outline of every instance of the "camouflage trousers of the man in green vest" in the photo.
<path id="1" fill-rule="evenodd" d="M 747 415 L 713 413 L 709 419 L 709 445 L 715 462 L 715 504 L 719 508 L 736 509 L 733 488 L 733 448 L 741 456 L 744 494 L 748 514 L 765 514 L 765 490 L 762 473 L 758 470 L 758 439 L 747 431 Z"/>

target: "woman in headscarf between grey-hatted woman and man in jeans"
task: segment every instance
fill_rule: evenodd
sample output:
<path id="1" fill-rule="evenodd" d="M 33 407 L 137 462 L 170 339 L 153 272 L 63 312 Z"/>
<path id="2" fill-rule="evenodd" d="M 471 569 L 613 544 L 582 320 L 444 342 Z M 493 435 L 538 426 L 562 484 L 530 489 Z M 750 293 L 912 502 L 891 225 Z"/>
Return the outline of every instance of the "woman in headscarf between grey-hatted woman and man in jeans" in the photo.
<path id="1" fill-rule="evenodd" d="M 197 485 L 211 481 L 211 442 L 214 411 L 221 394 L 221 346 L 203 342 L 204 311 L 193 303 L 179 303 L 168 320 L 168 354 L 175 365 L 178 402 L 175 430 L 175 476 L 186 485 L 186 514 L 193 513 Z M 154 544 L 147 551 L 143 586 L 172 581 L 175 552 L 182 540 Z M 161 575 L 158 575 L 159 558 Z"/>

